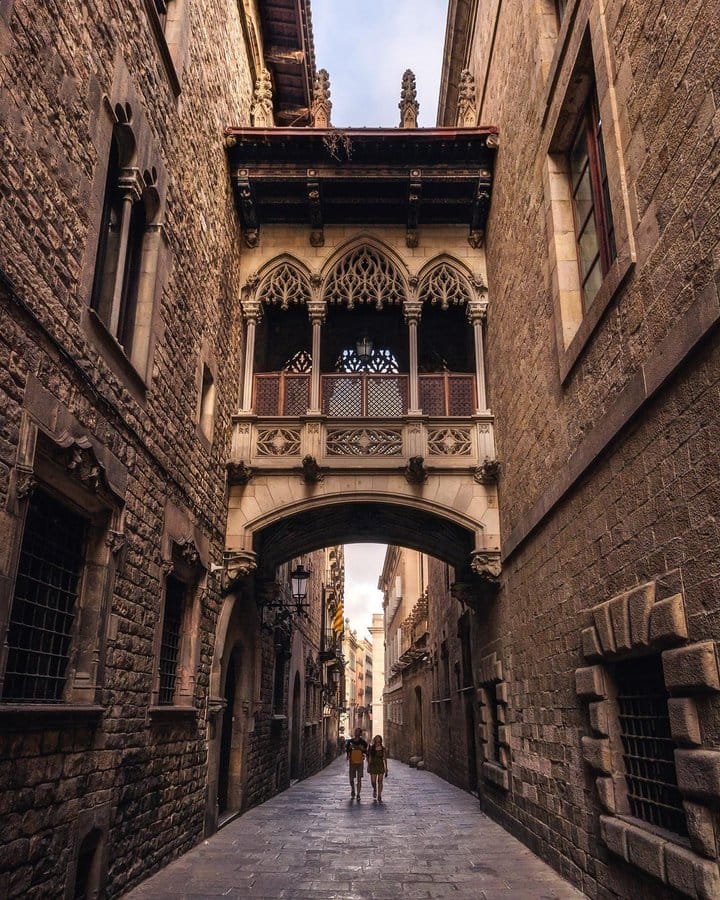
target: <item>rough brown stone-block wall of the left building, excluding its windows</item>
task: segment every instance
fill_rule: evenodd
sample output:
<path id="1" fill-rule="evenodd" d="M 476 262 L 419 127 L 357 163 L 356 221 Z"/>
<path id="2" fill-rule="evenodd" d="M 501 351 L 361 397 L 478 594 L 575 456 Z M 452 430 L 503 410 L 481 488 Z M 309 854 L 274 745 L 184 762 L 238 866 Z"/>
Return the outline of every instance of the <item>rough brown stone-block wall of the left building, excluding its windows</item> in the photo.
<path id="1" fill-rule="evenodd" d="M 103 863 L 107 896 L 203 833 L 206 702 L 220 608 L 209 569 L 224 546 L 224 464 L 241 347 L 239 241 L 222 131 L 248 120 L 251 82 L 236 6 L 174 4 L 186 17 L 187 42 L 170 48 L 172 66 L 163 63 L 148 6 L 0 4 L 3 602 L 25 502 L 16 463 L 36 428 L 54 440 L 62 424 L 92 444 L 107 472 L 120 473 L 113 523 L 125 535 L 99 632 L 97 717 L 30 710 L 10 720 L 0 711 L 3 896 L 64 895 L 92 828 L 112 848 Z M 163 194 L 147 374 L 133 372 L 88 322 L 115 102 L 131 104 L 142 164 L 155 168 Z M 197 427 L 202 361 L 217 389 L 212 443 Z M 148 709 L 171 508 L 192 535 L 203 575 L 196 713 L 161 720 Z"/>

